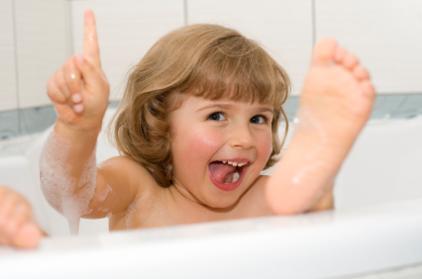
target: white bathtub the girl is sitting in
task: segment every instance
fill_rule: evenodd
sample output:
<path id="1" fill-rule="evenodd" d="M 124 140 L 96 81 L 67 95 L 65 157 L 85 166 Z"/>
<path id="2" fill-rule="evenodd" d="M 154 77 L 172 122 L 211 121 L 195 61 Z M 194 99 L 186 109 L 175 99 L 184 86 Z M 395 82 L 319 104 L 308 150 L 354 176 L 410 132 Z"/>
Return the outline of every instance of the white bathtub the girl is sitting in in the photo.
<path id="1" fill-rule="evenodd" d="M 84 221 L 79 237 L 43 199 L 31 143 L 0 158 L 0 178 L 53 237 L 37 251 L 0 249 L 0 278 L 422 278 L 421 143 L 422 118 L 370 122 L 338 176 L 335 211 L 111 234 L 105 220 Z M 99 146 L 99 160 L 115 154 Z"/>

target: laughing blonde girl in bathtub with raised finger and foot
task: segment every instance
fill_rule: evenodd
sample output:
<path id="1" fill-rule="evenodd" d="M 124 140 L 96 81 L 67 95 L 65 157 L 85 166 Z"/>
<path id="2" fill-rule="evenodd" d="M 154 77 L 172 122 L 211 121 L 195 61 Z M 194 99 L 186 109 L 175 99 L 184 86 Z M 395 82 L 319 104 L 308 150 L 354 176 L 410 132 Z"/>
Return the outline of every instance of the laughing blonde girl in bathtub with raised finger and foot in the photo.
<path id="1" fill-rule="evenodd" d="M 110 230 L 333 208 L 334 179 L 371 112 L 368 72 L 335 41 L 320 41 L 299 123 L 264 176 L 280 152 L 289 87 L 275 60 L 237 31 L 182 27 L 134 67 L 114 119 L 121 156 L 96 166 L 109 85 L 88 11 L 83 55 L 48 83 L 57 121 L 40 161 L 44 194 L 71 221 L 108 216 Z"/>

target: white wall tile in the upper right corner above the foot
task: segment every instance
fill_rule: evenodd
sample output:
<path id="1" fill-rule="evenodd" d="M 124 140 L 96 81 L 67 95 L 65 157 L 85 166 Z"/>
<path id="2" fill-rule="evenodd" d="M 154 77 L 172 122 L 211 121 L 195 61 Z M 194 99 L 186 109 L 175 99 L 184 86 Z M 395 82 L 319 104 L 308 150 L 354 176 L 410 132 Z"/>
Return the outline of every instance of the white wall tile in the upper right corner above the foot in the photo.
<path id="1" fill-rule="evenodd" d="M 422 91 L 422 2 L 317 0 L 317 37 L 335 37 L 371 71 L 379 92 Z"/>

